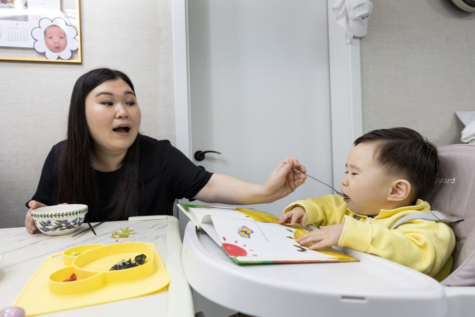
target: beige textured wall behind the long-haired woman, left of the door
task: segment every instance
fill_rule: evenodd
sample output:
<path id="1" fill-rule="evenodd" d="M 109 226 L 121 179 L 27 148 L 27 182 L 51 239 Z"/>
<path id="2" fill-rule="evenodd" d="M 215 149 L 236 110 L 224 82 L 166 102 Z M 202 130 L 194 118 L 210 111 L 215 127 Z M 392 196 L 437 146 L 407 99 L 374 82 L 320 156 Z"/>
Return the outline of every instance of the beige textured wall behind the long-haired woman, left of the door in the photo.
<path id="1" fill-rule="evenodd" d="M 66 137 L 76 79 L 125 72 L 142 109 L 141 132 L 175 144 L 171 0 L 81 0 L 83 63 L 0 61 L 0 228 L 24 226 L 44 160 Z"/>

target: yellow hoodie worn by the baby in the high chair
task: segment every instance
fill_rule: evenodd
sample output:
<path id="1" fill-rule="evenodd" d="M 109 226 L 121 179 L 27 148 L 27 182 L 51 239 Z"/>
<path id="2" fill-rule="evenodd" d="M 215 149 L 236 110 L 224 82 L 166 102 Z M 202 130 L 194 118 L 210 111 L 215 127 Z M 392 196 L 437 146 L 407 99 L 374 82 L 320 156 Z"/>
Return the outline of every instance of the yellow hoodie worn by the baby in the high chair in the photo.
<path id="1" fill-rule="evenodd" d="M 434 277 L 446 278 L 452 269 L 455 235 L 445 223 L 413 219 L 390 228 L 402 217 L 418 212 L 430 213 L 427 201 L 418 199 L 415 206 L 392 210 L 381 209 L 374 218 L 348 209 L 343 198 L 328 195 L 298 200 L 284 210 L 301 206 L 308 215 L 306 225 L 315 227 L 344 223 L 338 246 L 349 247 L 411 267 Z M 357 220 L 358 217 L 361 217 Z"/>

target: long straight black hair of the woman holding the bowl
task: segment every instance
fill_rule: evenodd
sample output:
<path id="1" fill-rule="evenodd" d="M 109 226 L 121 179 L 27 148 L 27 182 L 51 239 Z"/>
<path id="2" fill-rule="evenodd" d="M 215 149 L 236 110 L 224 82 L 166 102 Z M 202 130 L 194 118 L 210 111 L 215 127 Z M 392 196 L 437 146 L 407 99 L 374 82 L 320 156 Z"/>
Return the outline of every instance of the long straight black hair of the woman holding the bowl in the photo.
<path id="1" fill-rule="evenodd" d="M 67 120 L 67 139 L 59 157 L 59 201 L 69 204 L 85 204 L 89 207 L 87 218 L 94 219 L 104 210 L 115 208 L 107 220 L 126 219 L 138 216 L 138 176 L 140 134 L 127 150 L 120 168 L 120 183 L 104 210 L 98 210 L 99 202 L 95 171 L 91 165 L 94 142 L 87 129 L 85 99 L 87 95 L 106 80 L 123 79 L 132 91 L 132 81 L 123 72 L 99 68 L 93 69 L 76 80 L 71 95 Z"/>

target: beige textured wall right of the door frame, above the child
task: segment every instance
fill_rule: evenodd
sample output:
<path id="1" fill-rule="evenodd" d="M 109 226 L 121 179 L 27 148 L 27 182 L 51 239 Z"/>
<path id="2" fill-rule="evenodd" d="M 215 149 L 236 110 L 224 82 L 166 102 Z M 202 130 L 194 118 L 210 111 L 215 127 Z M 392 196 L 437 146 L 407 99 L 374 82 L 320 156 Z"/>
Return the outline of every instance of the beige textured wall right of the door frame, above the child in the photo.
<path id="1" fill-rule="evenodd" d="M 461 143 L 455 110 L 475 110 L 475 13 L 450 0 L 372 0 L 361 39 L 363 131 L 406 126 Z"/>

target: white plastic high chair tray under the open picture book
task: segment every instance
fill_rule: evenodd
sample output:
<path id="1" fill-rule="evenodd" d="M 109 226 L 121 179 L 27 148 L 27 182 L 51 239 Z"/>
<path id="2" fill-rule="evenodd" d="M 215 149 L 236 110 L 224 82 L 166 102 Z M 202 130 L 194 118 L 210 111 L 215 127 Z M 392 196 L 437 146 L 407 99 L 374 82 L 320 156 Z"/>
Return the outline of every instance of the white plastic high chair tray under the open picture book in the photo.
<path id="1" fill-rule="evenodd" d="M 384 258 L 340 248 L 351 263 L 236 265 L 189 222 L 181 250 L 185 276 L 204 297 L 251 316 L 445 316 L 444 288 Z"/>

